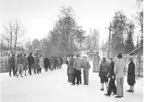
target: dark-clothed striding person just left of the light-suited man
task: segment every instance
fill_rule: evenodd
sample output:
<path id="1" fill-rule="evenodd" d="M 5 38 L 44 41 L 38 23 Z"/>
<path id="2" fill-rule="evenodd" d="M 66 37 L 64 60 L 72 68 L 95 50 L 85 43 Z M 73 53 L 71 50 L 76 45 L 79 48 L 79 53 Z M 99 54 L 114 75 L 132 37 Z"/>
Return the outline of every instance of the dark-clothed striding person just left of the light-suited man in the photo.
<path id="1" fill-rule="evenodd" d="M 111 63 L 110 63 L 110 69 L 108 73 L 108 77 L 110 78 L 110 80 L 109 80 L 109 87 L 107 90 L 107 94 L 105 94 L 106 96 L 110 96 L 112 92 L 116 94 L 114 61 L 113 61 L 113 58 L 110 58 L 110 60 L 111 60 Z"/>

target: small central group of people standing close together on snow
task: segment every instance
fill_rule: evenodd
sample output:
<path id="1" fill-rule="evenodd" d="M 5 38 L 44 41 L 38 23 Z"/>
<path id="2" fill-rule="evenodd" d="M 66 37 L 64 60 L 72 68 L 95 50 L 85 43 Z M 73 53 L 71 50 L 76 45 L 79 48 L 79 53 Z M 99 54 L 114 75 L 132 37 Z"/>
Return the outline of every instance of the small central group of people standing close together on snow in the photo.
<path id="1" fill-rule="evenodd" d="M 79 54 L 74 57 L 73 54 L 69 55 L 67 64 L 67 75 L 68 82 L 71 85 L 79 85 L 82 83 L 81 70 L 83 69 L 84 85 L 89 84 L 89 69 L 90 64 L 87 61 L 87 57 L 84 56 L 83 59 L 80 58 Z"/>

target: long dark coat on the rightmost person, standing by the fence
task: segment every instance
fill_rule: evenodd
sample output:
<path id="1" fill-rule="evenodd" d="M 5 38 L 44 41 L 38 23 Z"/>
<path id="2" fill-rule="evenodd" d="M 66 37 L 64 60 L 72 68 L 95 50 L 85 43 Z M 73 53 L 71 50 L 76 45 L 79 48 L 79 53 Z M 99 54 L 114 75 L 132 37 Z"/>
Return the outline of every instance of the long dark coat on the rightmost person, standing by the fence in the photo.
<path id="1" fill-rule="evenodd" d="M 135 64 L 133 61 L 128 65 L 127 83 L 129 85 L 135 84 Z"/>

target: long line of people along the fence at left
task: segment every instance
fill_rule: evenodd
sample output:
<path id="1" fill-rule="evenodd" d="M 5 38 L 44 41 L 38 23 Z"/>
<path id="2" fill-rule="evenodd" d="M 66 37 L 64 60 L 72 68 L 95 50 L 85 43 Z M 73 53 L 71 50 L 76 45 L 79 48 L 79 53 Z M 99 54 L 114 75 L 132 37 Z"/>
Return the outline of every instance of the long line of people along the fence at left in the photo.
<path id="1" fill-rule="evenodd" d="M 43 57 L 42 55 L 35 54 L 33 57 L 33 54 L 30 53 L 28 56 L 26 54 L 18 54 L 17 57 L 13 54 L 9 60 L 9 75 L 11 77 L 11 72 L 13 71 L 13 76 L 21 76 L 23 77 L 23 72 L 24 75 L 27 75 L 27 70 L 28 74 L 32 75 L 32 71 L 34 74 L 39 74 L 41 73 L 42 68 L 45 69 L 47 72 L 49 70 L 56 70 L 60 69 L 63 63 L 63 60 L 61 57 L 54 57 L 51 56 L 50 58 L 48 57 Z"/>

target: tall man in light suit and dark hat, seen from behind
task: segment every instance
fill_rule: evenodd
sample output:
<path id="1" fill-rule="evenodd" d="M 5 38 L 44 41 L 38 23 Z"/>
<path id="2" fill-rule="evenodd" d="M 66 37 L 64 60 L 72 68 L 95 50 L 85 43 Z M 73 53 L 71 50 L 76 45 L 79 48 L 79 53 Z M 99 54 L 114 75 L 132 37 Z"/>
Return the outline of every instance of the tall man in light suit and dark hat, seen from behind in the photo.
<path id="1" fill-rule="evenodd" d="M 116 84 L 117 84 L 117 96 L 115 98 L 123 97 L 123 82 L 125 75 L 125 62 L 123 61 L 122 54 L 118 54 L 117 60 L 114 65 L 114 73 L 116 76 Z"/>

